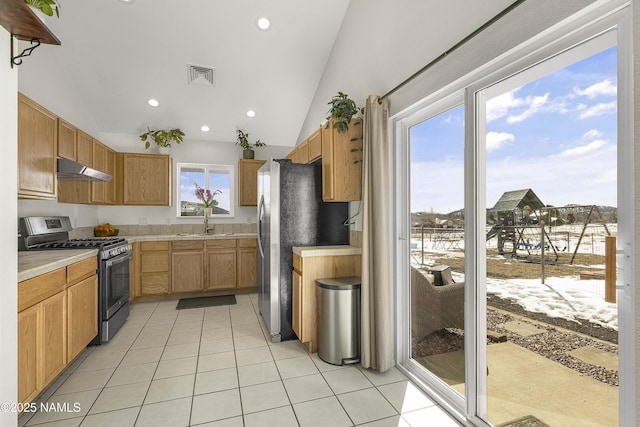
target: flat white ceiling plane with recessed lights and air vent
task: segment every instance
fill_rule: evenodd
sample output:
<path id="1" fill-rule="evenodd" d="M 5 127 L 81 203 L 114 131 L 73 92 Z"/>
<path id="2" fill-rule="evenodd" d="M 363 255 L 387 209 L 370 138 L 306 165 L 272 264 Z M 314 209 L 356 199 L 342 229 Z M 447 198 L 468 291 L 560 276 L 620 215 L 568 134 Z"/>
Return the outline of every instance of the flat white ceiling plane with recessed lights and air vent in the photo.
<path id="1" fill-rule="evenodd" d="M 36 100 L 57 114 L 64 117 L 60 111 L 73 111 L 68 105 L 73 103 L 82 106 L 85 123 L 90 121 L 101 133 L 137 135 L 147 126 L 178 127 L 186 139 L 235 141 L 240 127 L 250 134 L 250 142 L 290 146 L 349 4 L 60 3 L 60 18 L 47 18 L 46 24 L 62 45 L 39 48 L 19 70 L 20 90 L 27 95 L 35 91 Z M 268 30 L 258 28 L 259 17 L 270 20 Z M 187 64 L 213 68 L 214 86 L 190 85 Z M 150 107 L 149 98 L 160 106 Z M 255 111 L 255 117 L 247 117 L 248 110 Z M 202 132 L 202 125 L 211 130 Z"/>

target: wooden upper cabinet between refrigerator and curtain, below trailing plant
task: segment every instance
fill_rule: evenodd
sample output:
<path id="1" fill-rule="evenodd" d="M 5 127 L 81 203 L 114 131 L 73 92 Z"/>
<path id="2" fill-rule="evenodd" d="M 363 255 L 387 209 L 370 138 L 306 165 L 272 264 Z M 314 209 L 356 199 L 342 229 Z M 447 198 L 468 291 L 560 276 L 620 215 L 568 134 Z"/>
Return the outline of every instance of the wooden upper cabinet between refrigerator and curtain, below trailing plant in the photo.
<path id="1" fill-rule="evenodd" d="M 329 122 L 322 133 L 322 200 L 349 202 L 362 199 L 362 120 L 353 119 L 339 133 Z"/>

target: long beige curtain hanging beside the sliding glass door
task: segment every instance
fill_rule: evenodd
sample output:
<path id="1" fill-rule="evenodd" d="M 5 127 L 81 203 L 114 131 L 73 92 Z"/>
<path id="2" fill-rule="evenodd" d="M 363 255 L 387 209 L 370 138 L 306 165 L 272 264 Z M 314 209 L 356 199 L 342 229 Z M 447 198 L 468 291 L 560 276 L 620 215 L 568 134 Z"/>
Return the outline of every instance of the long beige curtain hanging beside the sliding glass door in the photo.
<path id="1" fill-rule="evenodd" d="M 389 104 L 369 96 L 365 106 L 362 164 L 361 364 L 388 370 L 393 363 Z"/>

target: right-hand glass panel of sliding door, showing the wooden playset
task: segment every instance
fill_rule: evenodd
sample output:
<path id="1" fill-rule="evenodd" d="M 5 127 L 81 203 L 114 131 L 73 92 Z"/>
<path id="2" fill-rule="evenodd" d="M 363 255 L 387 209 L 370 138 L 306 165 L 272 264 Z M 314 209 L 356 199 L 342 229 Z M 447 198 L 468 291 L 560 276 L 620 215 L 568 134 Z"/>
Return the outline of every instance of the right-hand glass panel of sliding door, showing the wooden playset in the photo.
<path id="1" fill-rule="evenodd" d="M 476 92 L 486 208 L 480 415 L 493 425 L 618 424 L 616 264 L 607 257 L 618 231 L 614 41 L 601 36 Z"/>

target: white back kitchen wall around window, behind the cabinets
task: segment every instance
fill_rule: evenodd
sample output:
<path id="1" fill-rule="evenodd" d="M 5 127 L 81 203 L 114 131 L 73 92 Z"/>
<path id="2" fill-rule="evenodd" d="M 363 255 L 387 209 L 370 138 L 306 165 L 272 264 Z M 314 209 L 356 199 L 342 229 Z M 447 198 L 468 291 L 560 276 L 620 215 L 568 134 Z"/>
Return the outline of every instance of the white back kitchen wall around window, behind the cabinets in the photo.
<path id="1" fill-rule="evenodd" d="M 34 101 L 39 102 L 38 99 Z M 55 113 L 55 111 L 54 111 Z M 73 123 L 73 118 L 68 121 Z M 137 135 L 125 134 L 98 134 L 93 135 L 104 144 L 116 151 L 143 153 L 144 143 Z M 153 152 L 153 147 L 149 152 Z M 284 157 L 291 147 L 266 146 L 256 149 L 256 159 L 269 159 L 271 157 Z M 176 175 L 176 163 L 212 163 L 233 165 L 235 168 L 235 184 L 238 185 L 238 160 L 242 157 L 240 147 L 229 142 L 197 141 L 189 140 L 188 135 L 185 141 L 174 144 L 171 147 L 171 156 L 174 161 L 174 178 Z M 175 184 L 174 180 L 174 184 Z M 174 185 L 175 190 L 175 185 Z M 176 216 L 176 192 L 173 192 L 173 206 L 97 206 L 97 205 L 77 205 L 69 203 L 57 203 L 55 201 L 21 200 L 18 203 L 20 216 L 30 215 L 66 215 L 72 220 L 74 227 L 95 226 L 100 223 L 109 222 L 112 224 L 139 224 L 144 221 L 147 224 L 196 224 L 202 219 L 177 218 Z M 236 188 L 236 206 L 233 218 L 214 219 L 215 223 L 255 223 L 256 208 L 238 206 L 238 196 Z"/>

